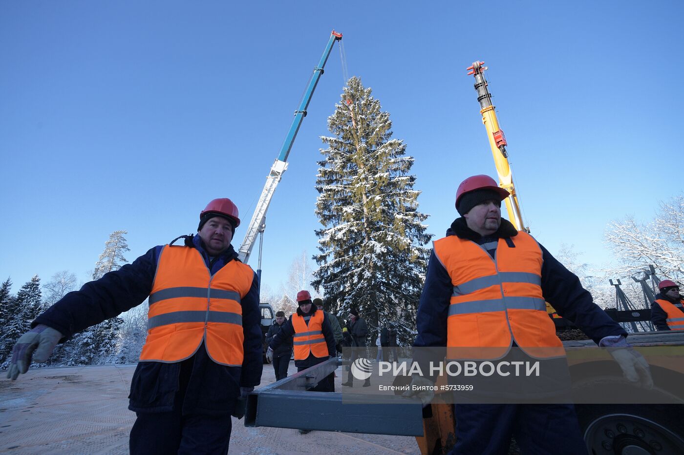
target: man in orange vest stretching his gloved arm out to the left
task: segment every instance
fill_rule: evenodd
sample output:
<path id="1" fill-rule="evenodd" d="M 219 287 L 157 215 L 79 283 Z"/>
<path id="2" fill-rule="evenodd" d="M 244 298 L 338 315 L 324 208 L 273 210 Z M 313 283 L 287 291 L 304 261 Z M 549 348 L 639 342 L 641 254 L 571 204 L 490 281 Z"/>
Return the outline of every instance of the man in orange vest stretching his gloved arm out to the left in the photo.
<path id="1" fill-rule="evenodd" d="M 8 377 L 27 372 L 34 351 L 34 361 L 47 361 L 57 342 L 149 297 L 129 395 L 137 415 L 131 454 L 228 453 L 231 413 L 262 371 L 257 275 L 231 245 L 239 223 L 231 199 L 213 199 L 200 212 L 198 235 L 154 247 L 66 294 L 19 338 Z"/>

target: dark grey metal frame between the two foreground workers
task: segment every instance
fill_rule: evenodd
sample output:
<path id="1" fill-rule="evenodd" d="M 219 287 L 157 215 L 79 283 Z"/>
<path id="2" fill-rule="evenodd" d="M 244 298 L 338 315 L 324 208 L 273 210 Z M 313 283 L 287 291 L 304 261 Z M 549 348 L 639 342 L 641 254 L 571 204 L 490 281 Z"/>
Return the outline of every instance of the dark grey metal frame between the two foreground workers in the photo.
<path id="1" fill-rule="evenodd" d="M 423 406 L 417 398 L 373 396 L 376 403 L 351 404 L 345 402 L 358 403 L 367 396 L 352 394 L 352 389 L 344 394 L 310 391 L 346 363 L 333 357 L 252 392 L 245 426 L 423 436 Z"/>

